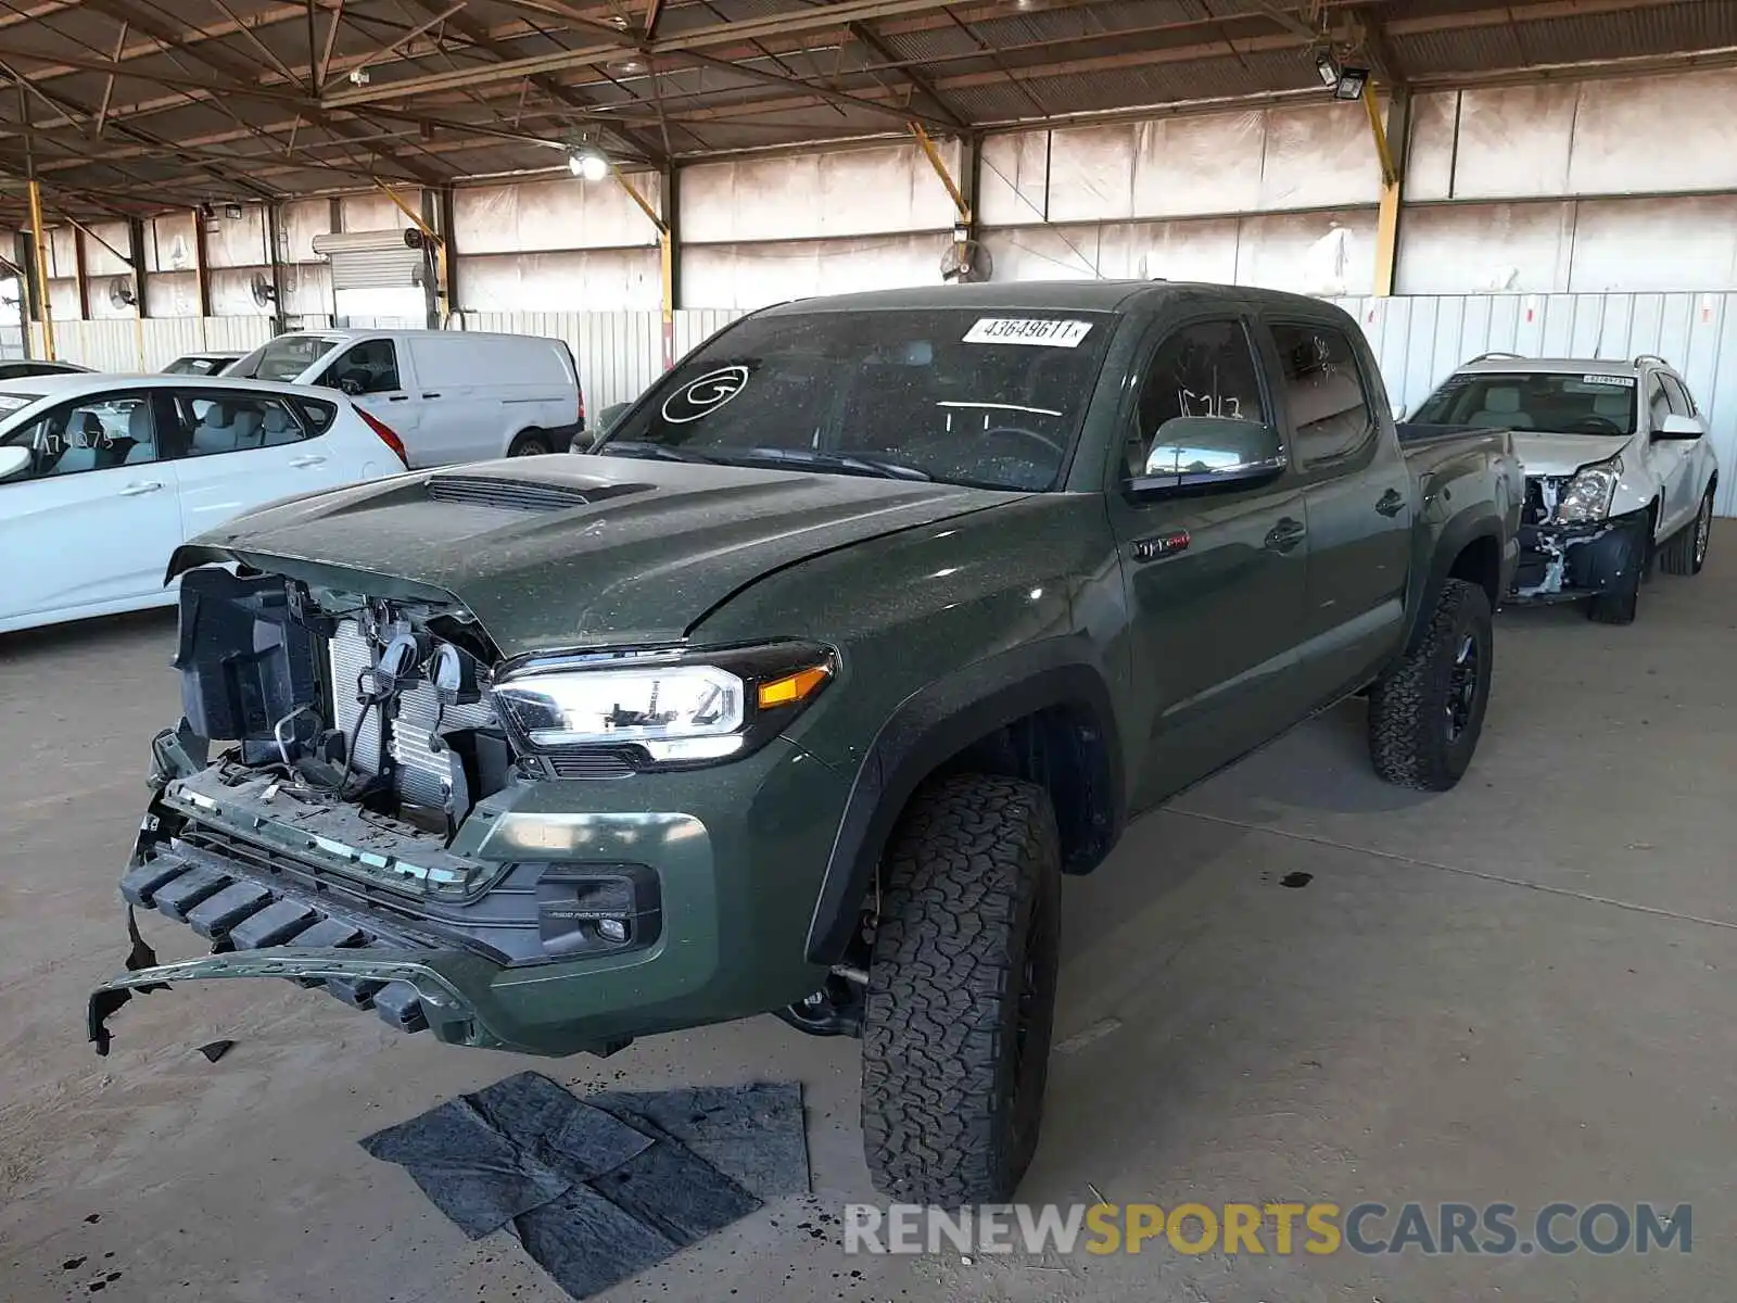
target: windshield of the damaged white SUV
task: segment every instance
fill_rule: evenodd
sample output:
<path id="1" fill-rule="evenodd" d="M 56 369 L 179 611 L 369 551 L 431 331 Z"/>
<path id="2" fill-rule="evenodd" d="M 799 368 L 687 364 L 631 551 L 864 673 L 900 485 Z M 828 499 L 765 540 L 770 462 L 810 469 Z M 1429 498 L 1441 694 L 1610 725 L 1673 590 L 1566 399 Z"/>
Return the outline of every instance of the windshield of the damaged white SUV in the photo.
<path id="1" fill-rule="evenodd" d="M 1586 372 L 1461 372 L 1412 417 L 1421 426 L 1489 426 L 1544 434 L 1633 434 L 1635 377 Z"/>

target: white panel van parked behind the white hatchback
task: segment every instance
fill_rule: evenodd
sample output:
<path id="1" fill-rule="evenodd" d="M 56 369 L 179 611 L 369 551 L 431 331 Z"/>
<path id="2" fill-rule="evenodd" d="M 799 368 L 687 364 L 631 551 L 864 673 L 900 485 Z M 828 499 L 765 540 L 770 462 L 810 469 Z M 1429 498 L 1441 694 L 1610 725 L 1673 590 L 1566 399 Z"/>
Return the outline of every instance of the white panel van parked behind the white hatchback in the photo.
<path id="1" fill-rule="evenodd" d="M 412 467 L 566 452 L 585 429 L 565 341 L 469 330 L 278 335 L 224 379 L 342 389 L 391 426 Z"/>

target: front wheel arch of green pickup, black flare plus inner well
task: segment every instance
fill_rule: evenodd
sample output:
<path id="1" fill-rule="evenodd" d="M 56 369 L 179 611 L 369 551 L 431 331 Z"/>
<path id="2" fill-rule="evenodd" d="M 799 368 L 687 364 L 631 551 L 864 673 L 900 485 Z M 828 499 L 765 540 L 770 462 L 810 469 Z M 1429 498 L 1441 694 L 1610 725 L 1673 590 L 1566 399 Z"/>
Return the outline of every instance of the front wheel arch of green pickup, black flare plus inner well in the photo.
<path id="1" fill-rule="evenodd" d="M 978 662 L 905 698 L 875 733 L 839 820 L 808 929 L 808 957 L 835 962 L 910 797 L 929 778 L 981 771 L 1049 790 L 1063 869 L 1094 869 L 1126 820 L 1110 688 L 1084 648 L 1040 643 Z"/>

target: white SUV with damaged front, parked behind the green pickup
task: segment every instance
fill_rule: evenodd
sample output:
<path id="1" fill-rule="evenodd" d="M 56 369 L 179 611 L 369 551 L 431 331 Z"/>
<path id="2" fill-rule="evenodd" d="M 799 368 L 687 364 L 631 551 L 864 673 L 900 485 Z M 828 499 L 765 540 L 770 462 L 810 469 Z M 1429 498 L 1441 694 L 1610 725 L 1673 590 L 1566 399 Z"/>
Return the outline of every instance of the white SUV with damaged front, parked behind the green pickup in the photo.
<path id="1" fill-rule="evenodd" d="M 1654 559 L 1697 575 L 1718 460 L 1694 394 L 1662 358 L 1487 353 L 1440 384 L 1414 426 L 1511 429 L 1525 466 L 1509 601 L 1586 601 L 1629 624 Z"/>

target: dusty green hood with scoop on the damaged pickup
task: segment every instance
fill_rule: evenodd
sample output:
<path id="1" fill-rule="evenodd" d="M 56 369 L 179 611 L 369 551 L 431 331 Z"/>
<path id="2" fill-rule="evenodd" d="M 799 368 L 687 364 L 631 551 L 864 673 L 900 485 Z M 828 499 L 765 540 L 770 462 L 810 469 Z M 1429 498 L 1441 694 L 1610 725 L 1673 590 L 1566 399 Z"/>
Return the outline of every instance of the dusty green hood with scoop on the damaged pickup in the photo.
<path id="1" fill-rule="evenodd" d="M 518 457 L 280 502 L 193 540 L 205 561 L 377 596 L 450 596 L 507 657 L 672 643 L 783 566 L 1025 493 L 802 471 Z"/>

